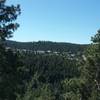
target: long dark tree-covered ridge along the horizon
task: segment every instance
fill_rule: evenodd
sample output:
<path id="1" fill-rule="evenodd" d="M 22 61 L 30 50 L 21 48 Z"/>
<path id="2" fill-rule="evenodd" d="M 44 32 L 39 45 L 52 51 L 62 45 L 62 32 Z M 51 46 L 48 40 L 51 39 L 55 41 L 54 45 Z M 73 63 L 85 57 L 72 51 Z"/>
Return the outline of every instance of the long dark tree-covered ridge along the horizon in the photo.
<path id="1" fill-rule="evenodd" d="M 51 41 L 38 41 L 38 42 L 17 42 L 6 41 L 6 46 L 12 49 L 26 49 L 26 50 L 41 50 L 41 51 L 53 51 L 53 52 L 83 52 L 87 48 L 88 44 L 74 44 L 65 42 L 51 42 Z"/>

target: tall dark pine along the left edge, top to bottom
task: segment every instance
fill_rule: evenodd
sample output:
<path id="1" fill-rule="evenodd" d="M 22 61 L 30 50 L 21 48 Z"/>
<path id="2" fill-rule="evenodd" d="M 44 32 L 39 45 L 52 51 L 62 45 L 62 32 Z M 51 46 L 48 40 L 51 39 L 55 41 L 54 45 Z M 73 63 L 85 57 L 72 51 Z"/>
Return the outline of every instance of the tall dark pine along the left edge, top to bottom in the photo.
<path id="1" fill-rule="evenodd" d="M 20 6 L 7 6 L 6 0 L 0 0 L 0 100 L 15 100 L 18 92 L 17 54 L 5 48 L 4 42 L 18 28 L 14 23 L 20 14 Z"/>

